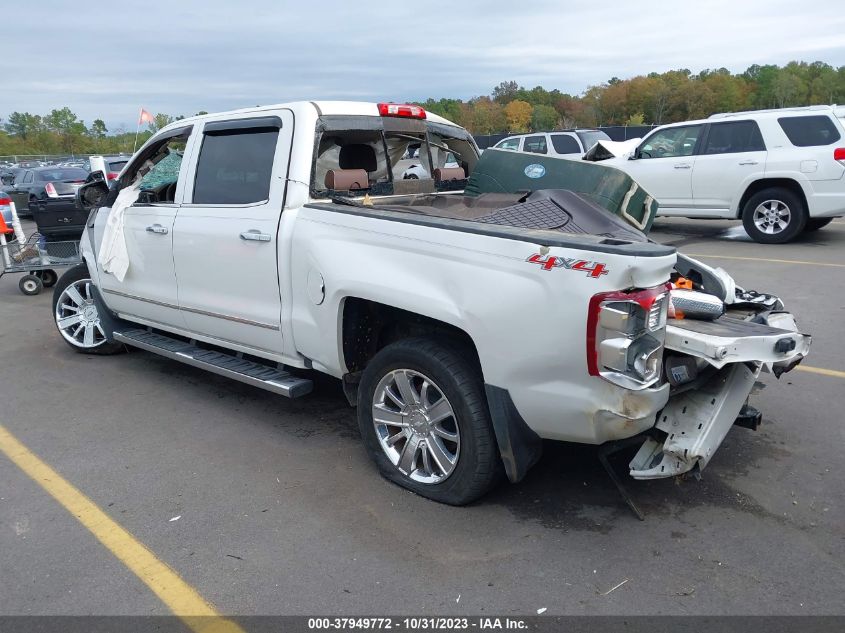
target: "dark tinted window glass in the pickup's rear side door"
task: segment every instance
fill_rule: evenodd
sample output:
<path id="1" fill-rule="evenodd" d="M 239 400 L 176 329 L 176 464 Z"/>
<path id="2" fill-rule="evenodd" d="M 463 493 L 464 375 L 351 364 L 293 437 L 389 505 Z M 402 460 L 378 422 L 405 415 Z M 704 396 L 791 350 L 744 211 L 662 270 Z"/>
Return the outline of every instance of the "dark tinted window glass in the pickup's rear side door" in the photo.
<path id="1" fill-rule="evenodd" d="M 253 204 L 270 197 L 278 128 L 206 132 L 197 161 L 194 204 Z"/>

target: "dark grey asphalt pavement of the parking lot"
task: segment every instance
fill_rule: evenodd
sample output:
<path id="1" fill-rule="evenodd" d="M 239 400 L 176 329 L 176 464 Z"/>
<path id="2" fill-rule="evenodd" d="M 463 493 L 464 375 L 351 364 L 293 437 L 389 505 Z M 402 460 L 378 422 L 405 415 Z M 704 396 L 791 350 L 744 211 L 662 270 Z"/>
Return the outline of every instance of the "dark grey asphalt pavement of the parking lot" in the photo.
<path id="1" fill-rule="evenodd" d="M 469 507 L 417 497 L 377 474 L 337 381 L 291 401 L 145 352 L 76 354 L 50 292 L 16 275 L 0 425 L 224 614 L 845 614 L 845 221 L 783 246 L 735 222 L 653 235 L 779 294 L 813 335 L 805 364 L 831 371 L 765 376 L 762 427 L 731 431 L 701 481 L 628 481 L 642 522 L 588 446 L 547 443 Z M 0 453 L 0 615 L 168 612 Z"/>

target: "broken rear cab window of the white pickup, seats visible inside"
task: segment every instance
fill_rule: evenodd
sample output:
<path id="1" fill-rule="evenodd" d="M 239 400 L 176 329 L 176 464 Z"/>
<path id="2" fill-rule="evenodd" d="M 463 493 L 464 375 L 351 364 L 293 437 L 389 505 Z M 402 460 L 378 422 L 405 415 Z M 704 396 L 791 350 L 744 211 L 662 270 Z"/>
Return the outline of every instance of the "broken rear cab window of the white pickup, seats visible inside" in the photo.
<path id="1" fill-rule="evenodd" d="M 462 128 L 400 117 L 318 119 L 311 197 L 460 191 L 478 161 Z"/>

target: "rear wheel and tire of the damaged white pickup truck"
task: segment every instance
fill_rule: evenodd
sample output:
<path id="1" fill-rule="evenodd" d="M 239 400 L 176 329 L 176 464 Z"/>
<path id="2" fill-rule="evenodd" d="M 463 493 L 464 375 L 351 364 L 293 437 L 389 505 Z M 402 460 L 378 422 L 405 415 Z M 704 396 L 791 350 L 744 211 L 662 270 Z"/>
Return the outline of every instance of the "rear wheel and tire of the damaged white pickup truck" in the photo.
<path id="1" fill-rule="evenodd" d="M 419 495 L 464 505 L 501 479 L 481 372 L 454 345 L 392 343 L 361 377 L 358 425 L 381 474 Z"/>

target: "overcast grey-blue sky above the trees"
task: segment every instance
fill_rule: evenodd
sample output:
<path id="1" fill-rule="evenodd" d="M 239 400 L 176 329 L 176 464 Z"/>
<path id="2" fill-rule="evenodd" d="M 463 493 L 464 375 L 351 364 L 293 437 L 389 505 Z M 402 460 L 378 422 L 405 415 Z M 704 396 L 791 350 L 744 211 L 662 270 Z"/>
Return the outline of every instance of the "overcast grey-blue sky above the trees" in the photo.
<path id="1" fill-rule="evenodd" d="M 297 99 L 467 99 L 504 80 L 580 94 L 689 68 L 845 65 L 842 0 L 13 0 L 0 117 L 69 106 L 134 129 Z"/>

